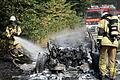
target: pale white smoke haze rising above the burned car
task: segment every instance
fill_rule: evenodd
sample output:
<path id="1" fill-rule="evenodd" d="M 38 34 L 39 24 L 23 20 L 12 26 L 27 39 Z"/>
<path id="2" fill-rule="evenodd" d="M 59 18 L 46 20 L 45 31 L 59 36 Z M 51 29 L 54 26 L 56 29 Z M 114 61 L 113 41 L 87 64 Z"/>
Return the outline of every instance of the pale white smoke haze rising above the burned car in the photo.
<path id="1" fill-rule="evenodd" d="M 51 37 L 57 45 L 63 47 L 77 47 L 85 42 L 87 29 L 85 27 L 75 28 L 70 31 L 62 31 Z"/>

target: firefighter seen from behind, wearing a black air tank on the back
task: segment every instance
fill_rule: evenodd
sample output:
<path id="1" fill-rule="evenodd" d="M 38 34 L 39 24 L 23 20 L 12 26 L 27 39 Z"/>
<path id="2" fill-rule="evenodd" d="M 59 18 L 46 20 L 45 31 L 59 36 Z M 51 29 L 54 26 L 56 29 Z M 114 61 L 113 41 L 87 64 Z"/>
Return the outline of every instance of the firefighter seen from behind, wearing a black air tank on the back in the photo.
<path id="1" fill-rule="evenodd" d="M 99 79 L 104 80 L 107 73 L 107 63 L 110 80 L 115 80 L 116 77 L 116 49 L 118 47 L 118 36 L 119 26 L 118 17 L 109 14 L 108 12 L 103 13 L 101 20 L 98 25 L 98 36 L 97 42 L 100 45 L 100 56 L 99 56 Z"/>

